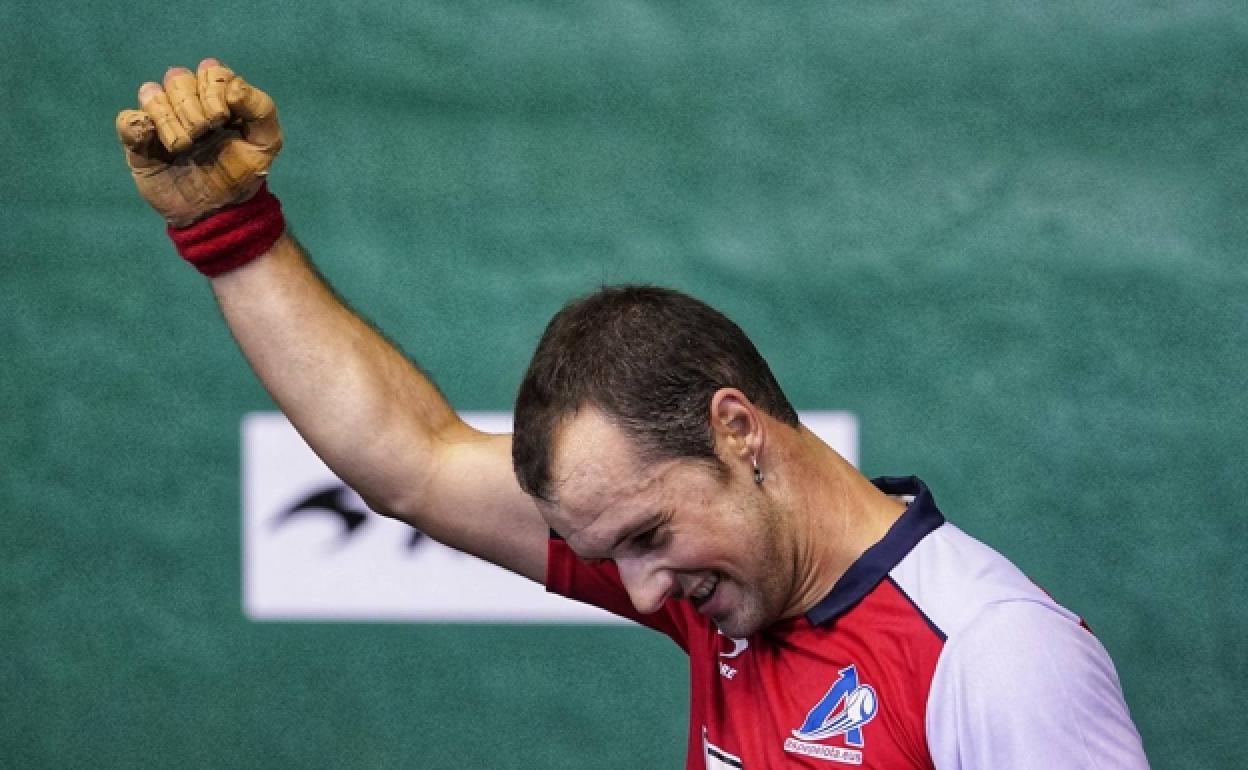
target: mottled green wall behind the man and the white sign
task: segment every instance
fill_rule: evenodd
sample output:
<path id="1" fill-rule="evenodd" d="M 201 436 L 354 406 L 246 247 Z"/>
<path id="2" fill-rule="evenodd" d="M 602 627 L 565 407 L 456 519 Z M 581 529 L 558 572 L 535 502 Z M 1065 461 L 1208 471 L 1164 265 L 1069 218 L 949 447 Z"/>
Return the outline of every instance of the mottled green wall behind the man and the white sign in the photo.
<path id="1" fill-rule="evenodd" d="M 684 663 L 639 629 L 242 616 L 238 421 L 271 402 L 112 134 L 216 55 L 281 107 L 297 235 L 457 407 L 509 408 L 573 295 L 694 292 L 1087 618 L 1156 768 L 1243 766 L 1243 4 L 10 0 L 0 30 L 0 765 L 683 761 Z"/>

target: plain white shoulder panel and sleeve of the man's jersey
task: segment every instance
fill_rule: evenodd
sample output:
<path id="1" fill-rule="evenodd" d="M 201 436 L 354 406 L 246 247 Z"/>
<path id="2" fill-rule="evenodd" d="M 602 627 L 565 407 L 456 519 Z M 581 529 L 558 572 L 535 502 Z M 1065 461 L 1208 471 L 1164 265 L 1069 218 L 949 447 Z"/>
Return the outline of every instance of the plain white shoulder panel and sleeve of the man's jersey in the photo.
<path id="1" fill-rule="evenodd" d="M 894 580 L 945 636 L 927 696 L 937 768 L 1147 768 L 1108 653 L 1078 615 L 952 524 Z"/>

